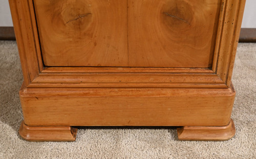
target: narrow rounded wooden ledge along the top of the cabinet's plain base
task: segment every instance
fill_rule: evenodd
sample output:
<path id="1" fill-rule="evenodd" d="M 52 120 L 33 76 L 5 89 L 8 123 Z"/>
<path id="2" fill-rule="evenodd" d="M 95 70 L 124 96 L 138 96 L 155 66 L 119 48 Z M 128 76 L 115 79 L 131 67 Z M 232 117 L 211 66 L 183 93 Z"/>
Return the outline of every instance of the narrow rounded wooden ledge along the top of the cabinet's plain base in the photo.
<path id="1" fill-rule="evenodd" d="M 233 85 L 222 88 L 24 88 L 20 97 L 187 97 L 197 96 L 234 96 Z"/>

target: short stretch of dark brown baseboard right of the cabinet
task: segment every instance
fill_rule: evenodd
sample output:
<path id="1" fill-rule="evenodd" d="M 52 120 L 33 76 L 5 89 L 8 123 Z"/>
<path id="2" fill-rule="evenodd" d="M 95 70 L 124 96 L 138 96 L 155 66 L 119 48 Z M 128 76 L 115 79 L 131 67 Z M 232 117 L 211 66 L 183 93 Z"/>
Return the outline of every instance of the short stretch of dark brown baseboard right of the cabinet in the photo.
<path id="1" fill-rule="evenodd" d="M 256 42 L 256 28 L 242 28 L 239 42 Z"/>

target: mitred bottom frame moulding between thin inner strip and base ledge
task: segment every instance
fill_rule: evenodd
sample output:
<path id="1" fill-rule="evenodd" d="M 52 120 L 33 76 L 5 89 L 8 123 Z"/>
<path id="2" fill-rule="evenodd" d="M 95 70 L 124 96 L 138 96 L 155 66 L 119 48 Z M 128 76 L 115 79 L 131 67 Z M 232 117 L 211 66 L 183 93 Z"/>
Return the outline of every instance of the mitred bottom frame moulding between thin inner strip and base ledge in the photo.
<path id="1" fill-rule="evenodd" d="M 41 73 L 30 88 L 227 88 L 214 73 Z"/>

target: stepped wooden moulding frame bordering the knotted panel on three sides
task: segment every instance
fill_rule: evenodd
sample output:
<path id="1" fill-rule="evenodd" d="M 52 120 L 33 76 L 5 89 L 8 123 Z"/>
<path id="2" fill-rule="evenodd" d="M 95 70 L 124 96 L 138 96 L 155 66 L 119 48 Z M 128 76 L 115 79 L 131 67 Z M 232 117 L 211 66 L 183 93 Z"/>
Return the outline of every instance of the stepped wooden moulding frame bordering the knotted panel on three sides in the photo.
<path id="1" fill-rule="evenodd" d="M 113 67 L 112 69 L 105 67 L 44 67 L 41 57 L 41 50 L 36 26 L 36 18 L 34 15 L 34 6 L 32 0 L 20 1 L 16 3 L 9 0 L 11 6 L 12 17 L 16 38 L 19 48 L 20 59 L 23 62 L 23 74 L 25 77 L 25 85 L 27 87 L 198 87 L 198 88 L 224 88 L 229 87 L 232 72 L 232 57 L 236 54 L 236 46 L 241 26 L 242 12 L 245 1 L 232 2 L 223 0 L 220 13 L 219 27 L 217 33 L 217 41 L 215 48 L 215 56 L 212 68 L 209 69 L 183 69 L 183 68 L 166 68 L 159 71 L 157 68 L 143 68 L 143 73 L 139 67 Z M 239 12 L 237 12 L 237 10 Z M 230 22 L 230 19 L 236 19 Z M 223 30 L 226 30 L 223 33 Z M 233 34 L 235 33 L 235 34 Z M 223 35 L 222 35 L 223 34 Z M 222 35 L 222 36 L 221 36 Z M 33 41 L 33 42 L 31 42 Z M 229 43 L 233 43 L 230 45 Z M 221 69 L 218 69 L 221 68 Z M 109 69 L 111 73 L 106 75 L 97 75 L 97 73 L 106 73 L 105 69 Z M 77 82 L 77 73 L 86 73 L 90 70 L 90 75 L 95 75 L 95 80 L 81 79 Z M 95 72 L 93 72 L 95 71 Z M 145 72 L 144 72 L 145 71 Z M 209 72 L 210 71 L 210 72 Z M 67 74 L 67 72 L 69 74 Z M 206 73 L 207 72 L 207 73 Z M 63 74 L 65 75 L 59 75 Z M 118 73 L 118 74 L 113 74 Z M 134 73 L 136 76 L 130 81 L 125 82 L 125 76 Z M 155 74 L 154 79 L 147 79 L 148 74 Z M 157 77 L 162 78 L 168 74 L 165 81 L 159 81 Z M 120 75 L 120 76 L 118 76 Z M 144 75 L 144 77 L 142 77 Z M 84 74 L 83 76 L 86 76 Z M 109 81 L 99 81 L 106 77 Z M 200 78 L 202 76 L 202 78 Z M 204 77 L 205 78 L 204 78 Z M 54 78 L 52 78 L 54 77 Z M 190 78 L 187 81 L 187 77 Z M 53 79 L 51 81 L 51 79 Z M 79 78 L 78 78 L 79 79 Z M 117 81 L 118 80 L 118 81 Z M 168 81 L 167 81 L 168 80 Z M 185 80 L 185 81 L 184 81 Z M 99 83 L 99 84 L 97 84 Z M 160 84 L 159 84 L 160 83 Z M 180 84 L 182 83 L 182 84 Z"/>

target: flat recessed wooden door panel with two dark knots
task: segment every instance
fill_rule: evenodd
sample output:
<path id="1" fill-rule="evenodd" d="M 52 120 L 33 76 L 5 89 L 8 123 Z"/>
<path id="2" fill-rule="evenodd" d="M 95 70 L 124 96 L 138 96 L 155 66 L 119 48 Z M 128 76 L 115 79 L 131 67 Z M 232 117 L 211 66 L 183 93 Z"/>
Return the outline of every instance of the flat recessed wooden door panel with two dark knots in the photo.
<path id="1" fill-rule="evenodd" d="M 221 0 L 34 0 L 48 66 L 212 65 Z"/>

